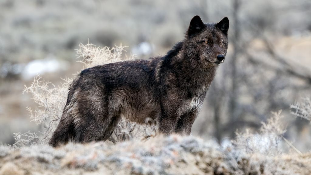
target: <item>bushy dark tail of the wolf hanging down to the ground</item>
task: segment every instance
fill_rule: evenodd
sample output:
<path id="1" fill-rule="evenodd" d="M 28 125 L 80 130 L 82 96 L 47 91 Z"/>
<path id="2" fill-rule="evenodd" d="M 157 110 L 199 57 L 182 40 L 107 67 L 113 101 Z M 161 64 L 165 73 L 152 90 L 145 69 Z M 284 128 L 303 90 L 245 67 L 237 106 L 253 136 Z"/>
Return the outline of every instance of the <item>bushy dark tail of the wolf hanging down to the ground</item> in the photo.
<path id="1" fill-rule="evenodd" d="M 67 112 L 67 107 L 71 108 L 72 106 L 66 105 L 63 116 L 49 140 L 49 145 L 52 147 L 57 147 L 59 144 L 66 144 L 74 136 L 73 117 L 70 112 Z"/>

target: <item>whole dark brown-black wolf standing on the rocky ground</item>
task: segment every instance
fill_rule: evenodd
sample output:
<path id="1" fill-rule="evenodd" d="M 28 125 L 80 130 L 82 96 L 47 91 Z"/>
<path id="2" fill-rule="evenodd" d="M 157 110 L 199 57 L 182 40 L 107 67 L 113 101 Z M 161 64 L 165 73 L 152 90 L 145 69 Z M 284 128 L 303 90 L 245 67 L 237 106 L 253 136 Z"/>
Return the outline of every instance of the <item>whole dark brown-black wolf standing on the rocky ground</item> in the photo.
<path id="1" fill-rule="evenodd" d="M 71 83 L 49 144 L 105 141 L 121 117 L 152 119 L 160 133 L 189 135 L 228 48 L 229 19 L 190 21 L 182 41 L 165 56 L 84 69 Z"/>

